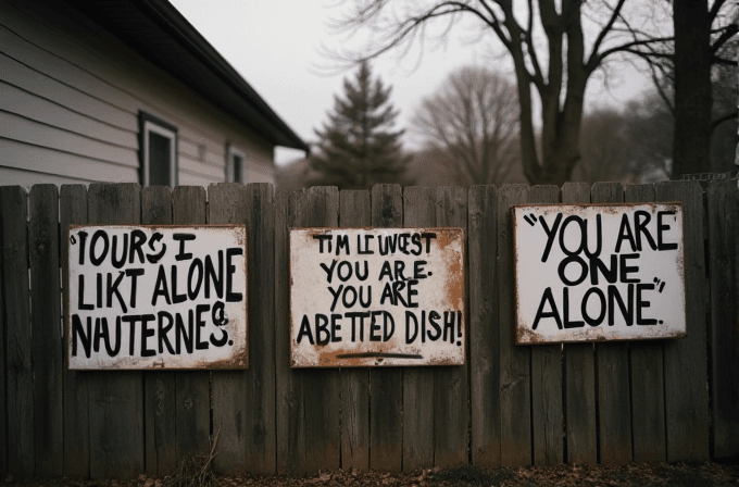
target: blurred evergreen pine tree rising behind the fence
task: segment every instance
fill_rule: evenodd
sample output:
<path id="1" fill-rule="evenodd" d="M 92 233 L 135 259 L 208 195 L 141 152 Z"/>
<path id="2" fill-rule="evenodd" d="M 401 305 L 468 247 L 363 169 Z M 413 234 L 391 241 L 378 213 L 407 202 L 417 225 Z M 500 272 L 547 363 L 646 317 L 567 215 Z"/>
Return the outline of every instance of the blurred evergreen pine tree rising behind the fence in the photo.
<path id="1" fill-rule="evenodd" d="M 318 174 L 311 184 L 339 189 L 371 189 L 378 183 L 409 184 L 403 177 L 410 157 L 392 132 L 398 111 L 389 102 L 390 87 L 372 79 L 369 65 L 360 65 L 353 82 L 343 80 L 346 98 L 334 97 L 328 123 L 315 130 L 320 153 L 311 157 Z"/>

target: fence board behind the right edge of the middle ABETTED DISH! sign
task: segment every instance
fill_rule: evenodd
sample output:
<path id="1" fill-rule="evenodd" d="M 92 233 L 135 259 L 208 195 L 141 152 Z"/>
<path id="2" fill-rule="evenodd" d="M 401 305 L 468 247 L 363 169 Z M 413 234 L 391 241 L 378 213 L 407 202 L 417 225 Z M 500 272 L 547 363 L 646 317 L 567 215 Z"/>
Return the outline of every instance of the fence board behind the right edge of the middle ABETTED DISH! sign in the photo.
<path id="1" fill-rule="evenodd" d="M 459 187 L 438 188 L 436 193 L 436 223 L 438 226 L 460 227 L 467 234 L 467 190 Z M 466 252 L 465 252 L 466 254 Z M 466 296 L 466 255 L 465 255 L 465 296 Z M 465 323 L 469 323 L 469 312 L 465 309 Z M 468 327 L 466 327 L 468 333 Z M 465 337 L 468 340 L 468 337 Z M 466 347 L 466 344 L 462 344 Z M 467 421 L 469 419 L 467 366 L 438 367 L 434 398 L 434 461 L 437 466 L 451 466 L 468 461 L 469 439 Z"/>

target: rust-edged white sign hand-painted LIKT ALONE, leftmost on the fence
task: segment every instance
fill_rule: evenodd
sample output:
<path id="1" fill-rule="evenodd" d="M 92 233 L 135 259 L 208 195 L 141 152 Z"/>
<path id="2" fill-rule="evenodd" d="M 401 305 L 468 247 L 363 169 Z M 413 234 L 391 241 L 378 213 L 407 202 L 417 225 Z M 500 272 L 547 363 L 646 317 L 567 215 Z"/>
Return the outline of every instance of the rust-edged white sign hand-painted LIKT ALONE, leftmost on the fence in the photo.
<path id="1" fill-rule="evenodd" d="M 72 225 L 73 370 L 248 366 L 245 225 Z"/>

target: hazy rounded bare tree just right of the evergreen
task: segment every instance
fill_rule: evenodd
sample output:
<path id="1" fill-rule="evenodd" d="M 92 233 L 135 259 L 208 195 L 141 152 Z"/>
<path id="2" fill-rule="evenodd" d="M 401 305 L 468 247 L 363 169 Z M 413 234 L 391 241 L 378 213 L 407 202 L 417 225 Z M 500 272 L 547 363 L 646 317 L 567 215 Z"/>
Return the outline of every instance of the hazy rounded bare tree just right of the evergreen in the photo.
<path id="1" fill-rule="evenodd" d="M 427 147 L 446 153 L 460 185 L 503 184 L 517 162 L 516 88 L 485 67 L 450 74 L 411 123 Z"/>

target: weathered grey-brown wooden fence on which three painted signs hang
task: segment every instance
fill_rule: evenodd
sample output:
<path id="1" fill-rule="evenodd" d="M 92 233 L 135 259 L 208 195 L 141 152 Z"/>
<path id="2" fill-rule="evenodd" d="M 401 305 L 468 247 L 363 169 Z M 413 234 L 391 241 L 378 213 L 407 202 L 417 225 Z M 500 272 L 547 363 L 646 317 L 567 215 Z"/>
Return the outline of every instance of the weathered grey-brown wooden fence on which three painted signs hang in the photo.
<path id="1" fill-rule="evenodd" d="M 682 202 L 688 337 L 514 346 L 511 205 L 618 201 Z M 739 454 L 736 180 L 705 191 L 39 185 L 0 188 L 0 208 L 1 478 L 163 476 L 215 436 L 216 471 L 256 475 Z M 61 244 L 73 223 L 246 223 L 249 370 L 66 370 Z M 367 225 L 465 228 L 464 366 L 290 369 L 288 229 Z"/>

